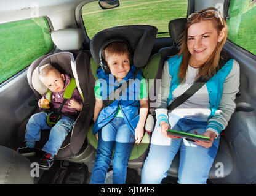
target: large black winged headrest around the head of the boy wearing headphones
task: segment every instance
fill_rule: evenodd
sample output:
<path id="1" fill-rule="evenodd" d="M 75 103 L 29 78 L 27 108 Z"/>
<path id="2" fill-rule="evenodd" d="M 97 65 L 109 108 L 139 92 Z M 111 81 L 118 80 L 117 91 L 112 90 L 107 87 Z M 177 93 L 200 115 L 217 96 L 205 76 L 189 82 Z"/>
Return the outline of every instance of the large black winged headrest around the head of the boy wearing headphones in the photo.
<path id="1" fill-rule="evenodd" d="M 129 42 L 132 50 L 132 61 L 137 67 L 145 66 L 151 55 L 151 50 L 158 29 L 150 25 L 117 26 L 98 32 L 90 41 L 90 52 L 97 64 L 100 64 L 100 48 L 111 39 L 124 39 Z"/>

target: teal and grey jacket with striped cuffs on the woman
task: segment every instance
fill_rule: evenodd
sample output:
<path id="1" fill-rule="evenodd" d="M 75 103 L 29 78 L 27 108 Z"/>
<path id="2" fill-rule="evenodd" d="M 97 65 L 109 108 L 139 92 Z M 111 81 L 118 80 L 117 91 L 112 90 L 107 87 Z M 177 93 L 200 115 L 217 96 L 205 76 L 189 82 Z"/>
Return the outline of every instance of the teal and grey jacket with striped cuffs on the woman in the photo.
<path id="1" fill-rule="evenodd" d="M 164 64 L 162 74 L 161 94 L 157 102 L 156 109 L 158 123 L 166 121 L 168 123 L 167 106 L 172 100 L 172 92 L 178 87 L 178 70 L 182 62 L 182 55 L 170 57 Z M 218 70 L 206 83 L 210 100 L 210 115 L 206 130 L 212 130 L 217 135 L 225 129 L 236 106 L 234 99 L 239 91 L 239 64 L 234 59 L 230 59 Z M 164 108 L 164 109 L 163 109 Z"/>

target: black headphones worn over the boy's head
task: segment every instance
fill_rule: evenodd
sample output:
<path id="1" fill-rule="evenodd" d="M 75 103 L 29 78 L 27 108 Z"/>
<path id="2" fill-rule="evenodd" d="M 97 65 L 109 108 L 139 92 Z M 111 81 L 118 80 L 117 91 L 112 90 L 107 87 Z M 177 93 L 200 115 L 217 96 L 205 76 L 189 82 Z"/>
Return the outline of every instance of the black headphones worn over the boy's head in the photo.
<path id="1" fill-rule="evenodd" d="M 113 42 L 124 42 L 126 43 L 128 50 L 129 50 L 129 56 L 130 56 L 130 65 L 132 65 L 132 48 L 130 47 L 129 42 L 127 42 L 127 40 L 125 39 L 110 39 L 108 41 L 106 41 L 105 43 L 103 43 L 102 47 L 100 47 L 100 51 L 99 51 L 99 56 L 100 56 L 100 67 L 102 67 L 103 71 L 106 74 L 110 74 L 110 67 L 108 67 L 108 63 L 105 61 L 105 59 L 102 56 L 102 51 L 108 46 L 110 45 L 110 43 Z"/>

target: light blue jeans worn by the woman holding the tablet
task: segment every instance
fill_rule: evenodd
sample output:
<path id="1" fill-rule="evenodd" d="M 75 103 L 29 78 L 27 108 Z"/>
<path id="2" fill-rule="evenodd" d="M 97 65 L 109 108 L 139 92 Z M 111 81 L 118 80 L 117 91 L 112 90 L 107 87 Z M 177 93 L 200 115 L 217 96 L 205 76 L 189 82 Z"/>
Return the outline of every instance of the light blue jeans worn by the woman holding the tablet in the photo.
<path id="1" fill-rule="evenodd" d="M 158 123 L 158 122 L 157 122 Z M 172 130 L 199 135 L 206 131 L 207 122 L 180 118 L 169 113 Z M 182 138 L 167 138 L 161 134 L 161 127 L 156 124 L 152 134 L 150 151 L 142 169 L 141 183 L 158 184 L 167 176 L 175 154 L 180 150 L 178 183 L 206 183 L 210 168 L 218 150 L 219 138 L 210 148 L 204 148 Z"/>

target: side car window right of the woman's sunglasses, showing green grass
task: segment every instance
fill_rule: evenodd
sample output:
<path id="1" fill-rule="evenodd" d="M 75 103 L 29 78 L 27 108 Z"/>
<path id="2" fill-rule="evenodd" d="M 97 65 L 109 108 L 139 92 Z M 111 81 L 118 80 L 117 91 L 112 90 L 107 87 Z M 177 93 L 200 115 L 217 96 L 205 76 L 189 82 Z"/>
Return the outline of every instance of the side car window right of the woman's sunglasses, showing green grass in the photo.
<path id="1" fill-rule="evenodd" d="M 256 55 L 256 1 L 231 0 L 228 39 Z"/>

